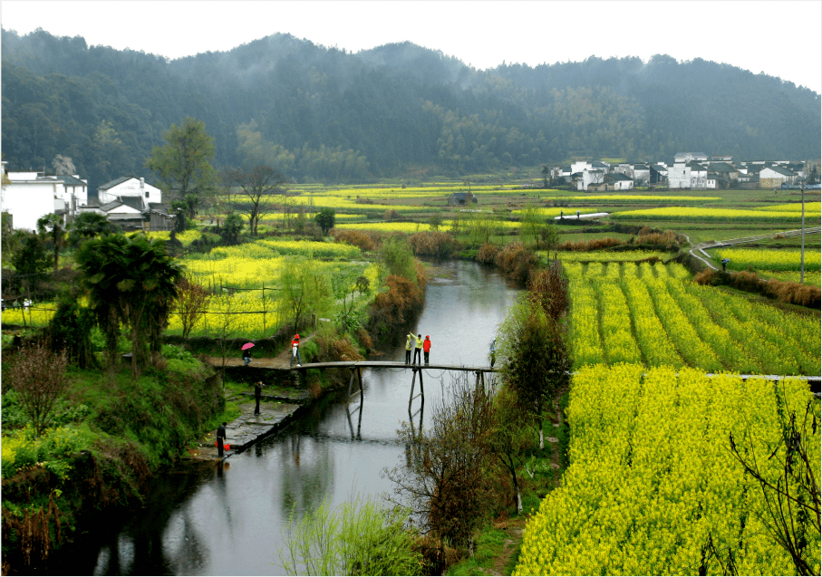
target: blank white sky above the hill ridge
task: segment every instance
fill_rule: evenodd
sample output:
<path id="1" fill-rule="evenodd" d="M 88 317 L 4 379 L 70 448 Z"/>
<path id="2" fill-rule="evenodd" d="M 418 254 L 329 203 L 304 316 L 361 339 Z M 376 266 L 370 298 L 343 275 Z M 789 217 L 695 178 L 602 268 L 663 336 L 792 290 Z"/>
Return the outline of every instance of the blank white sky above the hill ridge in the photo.
<path id="1" fill-rule="evenodd" d="M 666 53 L 765 72 L 822 92 L 822 0 L 725 2 L 140 0 L 0 2 L 0 23 L 169 58 L 269 34 L 358 52 L 406 40 L 480 70 Z"/>

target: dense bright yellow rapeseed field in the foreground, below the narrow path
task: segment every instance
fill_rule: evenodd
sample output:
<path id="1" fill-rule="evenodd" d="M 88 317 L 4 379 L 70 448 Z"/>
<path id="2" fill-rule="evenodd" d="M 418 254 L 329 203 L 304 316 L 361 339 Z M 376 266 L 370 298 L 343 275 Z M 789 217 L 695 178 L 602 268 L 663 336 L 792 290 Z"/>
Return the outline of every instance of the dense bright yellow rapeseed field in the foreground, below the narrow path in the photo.
<path id="1" fill-rule="evenodd" d="M 794 574 L 760 516 L 759 486 L 731 455 L 729 435 L 766 478 L 778 479 L 780 415 L 796 412 L 801 420 L 807 382 L 643 371 L 596 365 L 575 375 L 570 466 L 529 517 L 513 574 L 723 574 L 720 562 L 730 558 L 736 574 Z M 814 429 L 808 447 L 818 479 Z M 813 524 L 804 536 L 818 544 Z M 819 548 L 809 551 L 819 574 Z"/>

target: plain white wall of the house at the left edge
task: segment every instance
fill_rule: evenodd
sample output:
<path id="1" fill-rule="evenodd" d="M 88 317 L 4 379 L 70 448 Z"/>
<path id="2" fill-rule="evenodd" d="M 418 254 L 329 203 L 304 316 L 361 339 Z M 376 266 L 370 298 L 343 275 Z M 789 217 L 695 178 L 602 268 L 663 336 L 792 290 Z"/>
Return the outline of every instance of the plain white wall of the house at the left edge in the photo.
<path id="1" fill-rule="evenodd" d="M 36 172 L 9 172 L 11 181 L 0 192 L 0 210 L 12 215 L 12 226 L 37 229 L 41 216 L 54 212 L 54 200 L 63 201 L 63 183 L 49 178 L 37 178 Z"/>

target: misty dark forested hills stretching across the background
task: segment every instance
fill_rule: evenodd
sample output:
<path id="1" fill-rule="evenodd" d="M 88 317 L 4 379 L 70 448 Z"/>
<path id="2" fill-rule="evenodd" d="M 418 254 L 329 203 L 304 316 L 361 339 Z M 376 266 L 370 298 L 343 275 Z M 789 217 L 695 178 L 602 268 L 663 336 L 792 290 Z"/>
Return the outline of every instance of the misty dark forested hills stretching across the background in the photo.
<path id="1" fill-rule="evenodd" d="M 819 94 L 699 59 L 477 71 L 412 43 L 346 53 L 275 34 L 167 61 L 5 30 L 2 58 L 9 165 L 48 168 L 62 154 L 92 189 L 124 174 L 150 177 L 151 147 L 186 116 L 205 121 L 217 168 L 266 162 L 296 180 L 459 176 L 688 150 L 820 157 Z"/>

